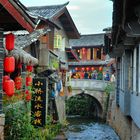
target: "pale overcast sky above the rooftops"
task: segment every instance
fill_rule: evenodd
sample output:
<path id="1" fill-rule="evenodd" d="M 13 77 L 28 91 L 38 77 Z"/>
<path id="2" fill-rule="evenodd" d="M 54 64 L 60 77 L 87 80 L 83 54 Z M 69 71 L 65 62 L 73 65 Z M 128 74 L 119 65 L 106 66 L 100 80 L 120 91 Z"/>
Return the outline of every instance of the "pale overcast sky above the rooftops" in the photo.
<path id="1" fill-rule="evenodd" d="M 45 6 L 66 3 L 67 0 L 20 0 L 25 6 Z M 69 0 L 69 13 L 81 34 L 101 33 L 112 25 L 110 0 Z"/>

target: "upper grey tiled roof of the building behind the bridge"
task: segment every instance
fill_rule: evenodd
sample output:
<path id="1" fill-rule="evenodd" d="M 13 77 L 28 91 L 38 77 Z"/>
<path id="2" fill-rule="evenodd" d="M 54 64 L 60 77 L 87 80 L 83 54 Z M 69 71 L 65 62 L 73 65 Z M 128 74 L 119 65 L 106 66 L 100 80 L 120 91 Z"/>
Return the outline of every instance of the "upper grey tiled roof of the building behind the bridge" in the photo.
<path id="1" fill-rule="evenodd" d="M 76 47 L 99 47 L 104 45 L 104 34 L 81 35 L 79 39 L 71 39 L 70 46 Z"/>

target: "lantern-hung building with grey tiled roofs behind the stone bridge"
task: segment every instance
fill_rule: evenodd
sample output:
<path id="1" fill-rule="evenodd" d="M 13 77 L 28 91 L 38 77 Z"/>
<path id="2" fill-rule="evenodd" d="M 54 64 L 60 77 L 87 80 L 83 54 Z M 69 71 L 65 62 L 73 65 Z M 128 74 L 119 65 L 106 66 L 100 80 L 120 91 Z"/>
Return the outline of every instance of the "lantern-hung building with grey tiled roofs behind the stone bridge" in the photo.
<path id="1" fill-rule="evenodd" d="M 111 61 L 103 51 L 104 34 L 81 35 L 79 39 L 71 39 L 70 46 L 66 48 L 70 70 L 98 71 Z"/>

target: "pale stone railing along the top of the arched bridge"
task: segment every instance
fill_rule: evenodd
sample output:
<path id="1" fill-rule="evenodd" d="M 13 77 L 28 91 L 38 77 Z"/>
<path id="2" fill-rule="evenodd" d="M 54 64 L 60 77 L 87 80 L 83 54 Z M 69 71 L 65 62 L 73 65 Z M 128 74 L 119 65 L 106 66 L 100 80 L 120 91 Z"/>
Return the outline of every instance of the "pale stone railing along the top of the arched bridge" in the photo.
<path id="1" fill-rule="evenodd" d="M 72 79 L 71 86 L 72 89 L 81 89 L 81 90 L 99 90 L 104 91 L 107 86 L 108 81 L 104 80 L 93 80 L 93 79 Z"/>

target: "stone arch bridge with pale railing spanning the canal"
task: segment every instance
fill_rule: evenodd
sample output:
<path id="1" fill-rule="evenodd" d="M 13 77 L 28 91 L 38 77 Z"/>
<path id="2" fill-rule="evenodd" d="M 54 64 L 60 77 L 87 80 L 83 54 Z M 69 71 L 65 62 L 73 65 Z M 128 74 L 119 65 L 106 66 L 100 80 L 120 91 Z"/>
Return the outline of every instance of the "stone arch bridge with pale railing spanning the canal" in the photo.
<path id="1" fill-rule="evenodd" d="M 95 100 L 95 103 L 97 105 L 98 116 L 104 118 L 107 101 L 105 88 L 107 85 L 108 81 L 104 80 L 72 79 L 72 93 L 68 96 L 67 99 L 78 94 L 91 96 Z"/>

